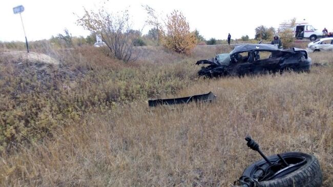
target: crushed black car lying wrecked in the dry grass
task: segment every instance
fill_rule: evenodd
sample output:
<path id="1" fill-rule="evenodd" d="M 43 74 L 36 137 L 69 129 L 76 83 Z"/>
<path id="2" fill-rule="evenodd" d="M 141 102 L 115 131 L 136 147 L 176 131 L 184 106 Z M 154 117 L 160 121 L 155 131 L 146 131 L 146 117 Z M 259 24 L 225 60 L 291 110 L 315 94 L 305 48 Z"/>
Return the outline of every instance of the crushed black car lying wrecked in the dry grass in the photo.
<path id="1" fill-rule="evenodd" d="M 265 72 L 309 71 L 311 58 L 306 50 L 299 48 L 278 49 L 269 44 L 246 44 L 236 46 L 230 53 L 215 58 L 199 60 L 196 65 L 209 64 L 199 70 L 199 76 L 216 77 L 257 74 Z"/>

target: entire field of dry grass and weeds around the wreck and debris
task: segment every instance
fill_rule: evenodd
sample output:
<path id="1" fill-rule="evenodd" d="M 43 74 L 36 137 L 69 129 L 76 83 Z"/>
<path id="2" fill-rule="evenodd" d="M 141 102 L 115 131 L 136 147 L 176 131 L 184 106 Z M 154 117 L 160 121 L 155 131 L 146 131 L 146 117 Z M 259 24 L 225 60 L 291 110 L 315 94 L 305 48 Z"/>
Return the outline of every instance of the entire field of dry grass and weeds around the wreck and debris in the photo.
<path id="1" fill-rule="evenodd" d="M 0 186 L 230 186 L 266 155 L 314 154 L 333 183 L 333 53 L 310 73 L 202 79 L 195 62 L 145 47 L 124 64 L 98 49 L 48 53 L 60 65 L 0 52 Z M 8 50 L 7 50 L 8 52 Z M 149 55 L 148 55 L 149 54 Z M 212 103 L 149 108 L 149 98 L 212 91 Z"/>

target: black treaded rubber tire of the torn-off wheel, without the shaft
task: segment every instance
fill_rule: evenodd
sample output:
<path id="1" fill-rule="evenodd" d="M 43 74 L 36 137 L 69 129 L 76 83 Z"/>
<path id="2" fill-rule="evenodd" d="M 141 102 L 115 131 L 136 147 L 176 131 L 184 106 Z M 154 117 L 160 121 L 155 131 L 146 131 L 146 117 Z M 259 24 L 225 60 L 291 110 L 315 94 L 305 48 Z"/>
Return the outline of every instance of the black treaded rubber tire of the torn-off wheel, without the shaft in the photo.
<path id="1" fill-rule="evenodd" d="M 262 187 L 320 187 L 322 185 L 322 172 L 320 170 L 319 162 L 313 155 L 301 152 L 287 152 L 280 154 L 290 164 L 293 159 L 297 161 L 300 157 L 305 158 L 306 163 L 297 170 L 280 176 L 272 180 L 259 181 L 259 186 Z M 268 156 L 270 161 L 279 160 L 277 155 Z M 264 159 L 259 160 L 246 168 L 242 176 L 253 178 L 258 165 L 266 163 Z"/>

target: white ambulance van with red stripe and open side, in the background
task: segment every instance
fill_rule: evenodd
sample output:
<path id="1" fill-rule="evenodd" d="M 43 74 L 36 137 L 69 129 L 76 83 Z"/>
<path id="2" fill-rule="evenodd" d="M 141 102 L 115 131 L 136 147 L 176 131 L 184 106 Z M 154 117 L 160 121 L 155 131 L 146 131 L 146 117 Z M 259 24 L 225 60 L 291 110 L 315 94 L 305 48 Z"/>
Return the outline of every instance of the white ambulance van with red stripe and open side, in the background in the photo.
<path id="1" fill-rule="evenodd" d="M 296 24 L 294 26 L 295 37 L 299 39 L 309 38 L 311 41 L 323 37 L 323 33 L 307 23 Z"/>

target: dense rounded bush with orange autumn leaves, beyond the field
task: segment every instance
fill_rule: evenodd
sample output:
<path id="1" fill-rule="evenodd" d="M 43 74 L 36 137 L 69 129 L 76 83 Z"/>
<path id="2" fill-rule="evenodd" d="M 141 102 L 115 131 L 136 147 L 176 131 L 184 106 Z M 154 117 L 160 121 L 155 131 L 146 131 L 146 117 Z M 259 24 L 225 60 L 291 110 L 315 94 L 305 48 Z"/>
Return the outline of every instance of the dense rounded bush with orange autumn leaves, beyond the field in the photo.
<path id="1" fill-rule="evenodd" d="M 163 46 L 177 53 L 189 54 L 196 46 L 196 37 L 190 32 L 189 22 L 177 10 L 169 14 L 167 18 L 166 31 L 163 31 L 161 35 Z"/>

